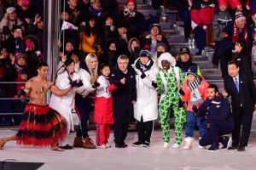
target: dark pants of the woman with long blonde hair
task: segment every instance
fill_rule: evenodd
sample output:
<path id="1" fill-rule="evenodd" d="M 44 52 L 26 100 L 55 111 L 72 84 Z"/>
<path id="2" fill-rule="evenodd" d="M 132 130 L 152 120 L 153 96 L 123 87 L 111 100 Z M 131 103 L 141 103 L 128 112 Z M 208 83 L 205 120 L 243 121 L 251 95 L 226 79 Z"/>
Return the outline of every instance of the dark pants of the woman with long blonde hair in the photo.
<path id="1" fill-rule="evenodd" d="M 88 96 L 83 98 L 82 95 L 76 94 L 75 97 L 75 110 L 80 118 L 79 130 L 77 132 L 77 137 L 87 138 L 88 129 L 87 121 L 90 113 L 90 99 Z"/>

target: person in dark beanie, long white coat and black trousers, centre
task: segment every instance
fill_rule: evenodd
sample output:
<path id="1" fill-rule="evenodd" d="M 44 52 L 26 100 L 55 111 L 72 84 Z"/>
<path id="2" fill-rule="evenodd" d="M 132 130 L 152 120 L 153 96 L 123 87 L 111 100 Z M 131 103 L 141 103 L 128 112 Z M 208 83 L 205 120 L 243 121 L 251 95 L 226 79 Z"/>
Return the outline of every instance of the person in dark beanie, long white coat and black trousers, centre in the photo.
<path id="1" fill-rule="evenodd" d="M 148 147 L 154 131 L 154 120 L 158 116 L 158 95 L 152 82 L 156 81 L 159 68 L 151 58 L 149 46 L 143 48 L 131 65 L 136 71 L 137 102 L 134 104 L 134 117 L 137 120 L 138 140 L 132 146 Z"/>

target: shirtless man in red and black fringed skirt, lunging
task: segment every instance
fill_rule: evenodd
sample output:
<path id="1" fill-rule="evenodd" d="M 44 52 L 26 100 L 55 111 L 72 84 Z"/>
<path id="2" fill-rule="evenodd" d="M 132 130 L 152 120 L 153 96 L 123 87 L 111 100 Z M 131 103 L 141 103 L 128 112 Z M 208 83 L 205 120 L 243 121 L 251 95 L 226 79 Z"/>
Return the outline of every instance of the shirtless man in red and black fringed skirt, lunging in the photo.
<path id="1" fill-rule="evenodd" d="M 0 150 L 10 140 L 16 140 L 17 144 L 48 146 L 51 150 L 63 151 L 57 142 L 65 139 L 67 135 L 67 122 L 57 111 L 45 103 L 48 90 L 59 96 L 67 94 L 76 84 L 73 82 L 69 88 L 60 90 L 53 82 L 46 79 L 48 65 L 44 62 L 38 64 L 38 76 L 32 77 L 26 82 L 25 89 L 20 91 L 20 99 L 25 102 L 29 97 L 22 116 L 18 133 L 9 138 L 0 139 Z"/>

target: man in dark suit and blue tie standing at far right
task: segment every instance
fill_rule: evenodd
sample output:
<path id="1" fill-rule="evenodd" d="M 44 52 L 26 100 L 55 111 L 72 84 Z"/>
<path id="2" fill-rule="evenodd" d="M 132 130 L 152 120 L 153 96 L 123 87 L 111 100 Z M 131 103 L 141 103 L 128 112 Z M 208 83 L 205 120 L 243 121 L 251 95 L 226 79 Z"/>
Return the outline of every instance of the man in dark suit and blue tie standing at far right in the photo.
<path id="1" fill-rule="evenodd" d="M 228 71 L 229 76 L 224 79 L 223 95 L 224 97 L 231 96 L 232 112 L 236 121 L 232 133 L 233 143 L 229 150 L 244 151 L 250 136 L 253 111 L 256 107 L 256 88 L 252 77 L 239 72 L 236 61 L 230 61 Z"/>

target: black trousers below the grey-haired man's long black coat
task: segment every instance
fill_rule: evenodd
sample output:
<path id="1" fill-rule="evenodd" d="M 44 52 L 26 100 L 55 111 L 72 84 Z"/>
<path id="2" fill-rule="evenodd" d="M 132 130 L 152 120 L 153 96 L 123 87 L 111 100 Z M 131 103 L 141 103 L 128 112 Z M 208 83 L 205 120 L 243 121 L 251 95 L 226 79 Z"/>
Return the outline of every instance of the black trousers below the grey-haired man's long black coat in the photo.
<path id="1" fill-rule="evenodd" d="M 128 133 L 129 122 L 114 123 L 113 124 L 113 137 L 115 144 L 125 144 L 125 139 Z"/>

